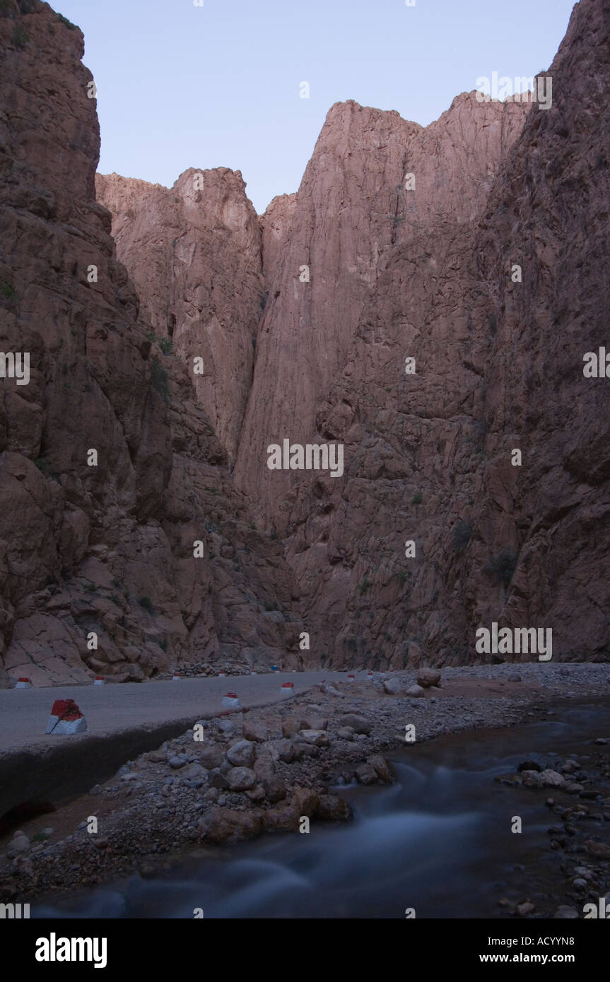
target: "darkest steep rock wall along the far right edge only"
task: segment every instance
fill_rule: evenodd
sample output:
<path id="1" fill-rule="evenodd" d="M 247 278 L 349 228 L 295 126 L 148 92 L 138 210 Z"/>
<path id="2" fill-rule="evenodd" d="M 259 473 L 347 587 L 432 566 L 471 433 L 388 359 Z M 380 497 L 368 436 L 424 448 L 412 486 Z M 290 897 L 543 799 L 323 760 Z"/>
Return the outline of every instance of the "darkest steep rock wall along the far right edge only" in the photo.
<path id="1" fill-rule="evenodd" d="M 610 382 L 583 357 L 610 351 L 608 0 L 577 5 L 548 75 L 552 109 L 528 115 L 477 241 L 490 337 L 473 526 L 479 555 L 511 550 L 515 572 L 489 590 L 474 567 L 466 588 L 473 620 L 552 627 L 554 658 L 607 660 Z"/>

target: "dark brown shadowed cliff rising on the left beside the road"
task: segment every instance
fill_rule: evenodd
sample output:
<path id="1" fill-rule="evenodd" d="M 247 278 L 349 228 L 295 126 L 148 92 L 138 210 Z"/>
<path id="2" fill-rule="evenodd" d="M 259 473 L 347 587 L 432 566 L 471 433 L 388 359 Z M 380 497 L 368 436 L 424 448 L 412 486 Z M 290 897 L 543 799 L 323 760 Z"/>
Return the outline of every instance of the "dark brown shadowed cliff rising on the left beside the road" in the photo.
<path id="1" fill-rule="evenodd" d="M 2 383 L 0 665 L 45 684 L 277 660 L 290 571 L 116 259 L 83 35 L 6 0 L 0 45 L 0 347 L 30 366 Z"/>

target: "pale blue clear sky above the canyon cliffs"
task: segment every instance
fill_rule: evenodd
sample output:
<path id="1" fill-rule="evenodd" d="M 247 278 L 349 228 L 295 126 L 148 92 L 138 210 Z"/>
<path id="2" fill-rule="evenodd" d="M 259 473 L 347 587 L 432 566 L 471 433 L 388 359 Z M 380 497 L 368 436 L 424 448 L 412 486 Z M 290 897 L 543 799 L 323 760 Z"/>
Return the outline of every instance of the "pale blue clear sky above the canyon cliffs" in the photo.
<path id="1" fill-rule="evenodd" d="M 56 0 L 83 29 L 102 173 L 171 186 L 241 170 L 258 212 L 297 191 L 330 106 L 423 126 L 493 71 L 547 69 L 573 0 Z M 301 82 L 309 98 L 300 97 Z"/>

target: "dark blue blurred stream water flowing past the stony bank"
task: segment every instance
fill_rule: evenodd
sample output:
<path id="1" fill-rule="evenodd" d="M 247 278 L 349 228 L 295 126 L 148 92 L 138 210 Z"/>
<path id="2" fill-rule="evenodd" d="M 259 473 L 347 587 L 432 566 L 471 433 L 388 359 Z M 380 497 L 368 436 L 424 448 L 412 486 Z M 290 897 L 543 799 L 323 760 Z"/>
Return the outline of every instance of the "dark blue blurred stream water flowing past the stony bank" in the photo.
<path id="1" fill-rule="evenodd" d="M 548 792 L 494 782 L 523 759 L 591 747 L 610 736 L 608 705 L 559 708 L 543 722 L 411 744 L 391 755 L 398 783 L 342 789 L 355 819 L 311 823 L 309 834 L 264 836 L 196 853 L 152 878 L 133 875 L 52 905 L 34 917 L 393 918 L 494 917 L 501 897 L 548 895 L 556 857 L 546 829 Z M 511 832 L 520 815 L 524 832 Z M 592 830 L 591 830 L 592 831 Z"/>

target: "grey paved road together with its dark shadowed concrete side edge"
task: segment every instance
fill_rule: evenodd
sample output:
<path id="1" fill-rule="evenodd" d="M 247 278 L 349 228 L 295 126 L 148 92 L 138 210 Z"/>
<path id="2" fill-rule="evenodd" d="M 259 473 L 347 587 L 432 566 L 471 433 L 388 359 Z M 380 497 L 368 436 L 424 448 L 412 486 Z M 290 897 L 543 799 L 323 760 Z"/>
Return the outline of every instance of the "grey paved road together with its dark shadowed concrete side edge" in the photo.
<path id="1" fill-rule="evenodd" d="M 359 674 L 364 678 L 364 673 Z M 287 701 L 282 682 L 295 692 L 339 672 L 273 672 L 227 679 L 66 685 L 0 690 L 0 818 L 25 803 L 52 805 L 108 780 L 121 764 L 185 733 L 196 720 L 224 712 L 226 692 L 237 692 L 244 708 Z M 45 736 L 55 699 L 74 699 L 87 733 Z"/>

